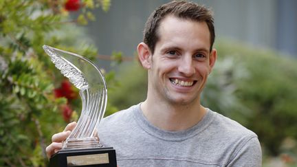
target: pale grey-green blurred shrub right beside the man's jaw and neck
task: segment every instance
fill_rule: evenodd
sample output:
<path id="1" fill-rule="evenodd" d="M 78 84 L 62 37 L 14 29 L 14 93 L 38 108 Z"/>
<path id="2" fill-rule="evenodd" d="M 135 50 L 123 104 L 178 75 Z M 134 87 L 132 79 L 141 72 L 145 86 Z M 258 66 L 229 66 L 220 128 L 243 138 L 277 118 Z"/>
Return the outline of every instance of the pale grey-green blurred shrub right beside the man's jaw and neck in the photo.
<path id="1" fill-rule="evenodd" d="M 247 78 L 250 78 L 250 71 L 243 63 L 236 61 L 232 56 L 219 58 L 203 90 L 201 103 L 210 107 L 212 111 L 245 123 L 251 111 L 241 103 L 236 91 L 239 91 L 238 85 L 243 84 Z"/>

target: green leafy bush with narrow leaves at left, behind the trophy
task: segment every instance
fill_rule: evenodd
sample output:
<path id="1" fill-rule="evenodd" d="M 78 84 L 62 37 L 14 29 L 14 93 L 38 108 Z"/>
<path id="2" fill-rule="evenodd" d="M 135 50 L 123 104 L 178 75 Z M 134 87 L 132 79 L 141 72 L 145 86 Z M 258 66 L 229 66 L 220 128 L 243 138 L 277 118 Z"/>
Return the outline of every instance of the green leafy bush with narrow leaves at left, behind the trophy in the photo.
<path id="1" fill-rule="evenodd" d="M 77 25 L 94 20 L 94 8 L 107 10 L 109 0 L 76 1 L 74 20 L 65 8 L 69 1 L 0 1 L 0 166 L 46 166 L 45 146 L 67 124 L 61 107 L 79 107 L 79 99 L 54 96 L 64 78 L 42 45 L 94 60 L 96 49 Z"/>

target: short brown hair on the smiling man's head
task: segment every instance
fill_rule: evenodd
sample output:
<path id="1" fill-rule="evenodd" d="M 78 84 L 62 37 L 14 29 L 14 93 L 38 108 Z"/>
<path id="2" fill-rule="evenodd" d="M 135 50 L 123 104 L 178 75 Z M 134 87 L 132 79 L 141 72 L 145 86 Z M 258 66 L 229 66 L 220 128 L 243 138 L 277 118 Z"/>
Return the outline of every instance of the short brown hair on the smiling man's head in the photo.
<path id="1" fill-rule="evenodd" d="M 181 19 L 190 19 L 192 21 L 205 21 L 208 25 L 208 30 L 210 30 L 210 51 L 212 50 L 215 37 L 212 11 L 197 3 L 172 1 L 157 8 L 146 21 L 144 27 L 144 43 L 151 49 L 152 54 L 155 51 L 155 44 L 159 40 L 157 29 L 162 19 L 167 15 L 173 15 Z"/>

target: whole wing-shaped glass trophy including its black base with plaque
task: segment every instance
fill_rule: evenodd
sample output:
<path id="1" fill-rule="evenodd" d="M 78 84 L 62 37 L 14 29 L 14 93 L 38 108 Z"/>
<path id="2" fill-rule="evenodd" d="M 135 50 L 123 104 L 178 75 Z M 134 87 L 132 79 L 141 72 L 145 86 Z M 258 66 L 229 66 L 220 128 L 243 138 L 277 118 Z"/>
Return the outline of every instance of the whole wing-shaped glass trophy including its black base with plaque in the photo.
<path id="1" fill-rule="evenodd" d="M 90 60 L 43 45 L 61 74 L 78 88 L 83 102 L 80 118 L 63 148 L 50 158 L 50 166 L 117 166 L 115 150 L 99 142 L 97 129 L 107 106 L 107 84 Z"/>

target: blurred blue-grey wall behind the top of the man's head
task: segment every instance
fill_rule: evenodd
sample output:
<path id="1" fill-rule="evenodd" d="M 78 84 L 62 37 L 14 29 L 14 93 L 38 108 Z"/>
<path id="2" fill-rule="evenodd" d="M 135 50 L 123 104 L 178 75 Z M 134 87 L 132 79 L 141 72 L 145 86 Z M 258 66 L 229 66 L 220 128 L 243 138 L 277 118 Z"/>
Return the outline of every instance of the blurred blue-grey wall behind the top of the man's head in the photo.
<path id="1" fill-rule="evenodd" d="M 96 10 L 96 22 L 87 25 L 87 34 L 100 53 L 115 49 L 133 55 L 142 41 L 144 23 L 149 14 L 168 0 L 114 0 L 109 12 Z M 195 1 L 214 11 L 217 39 L 243 41 L 259 48 L 272 48 L 297 55 L 297 1 Z"/>

